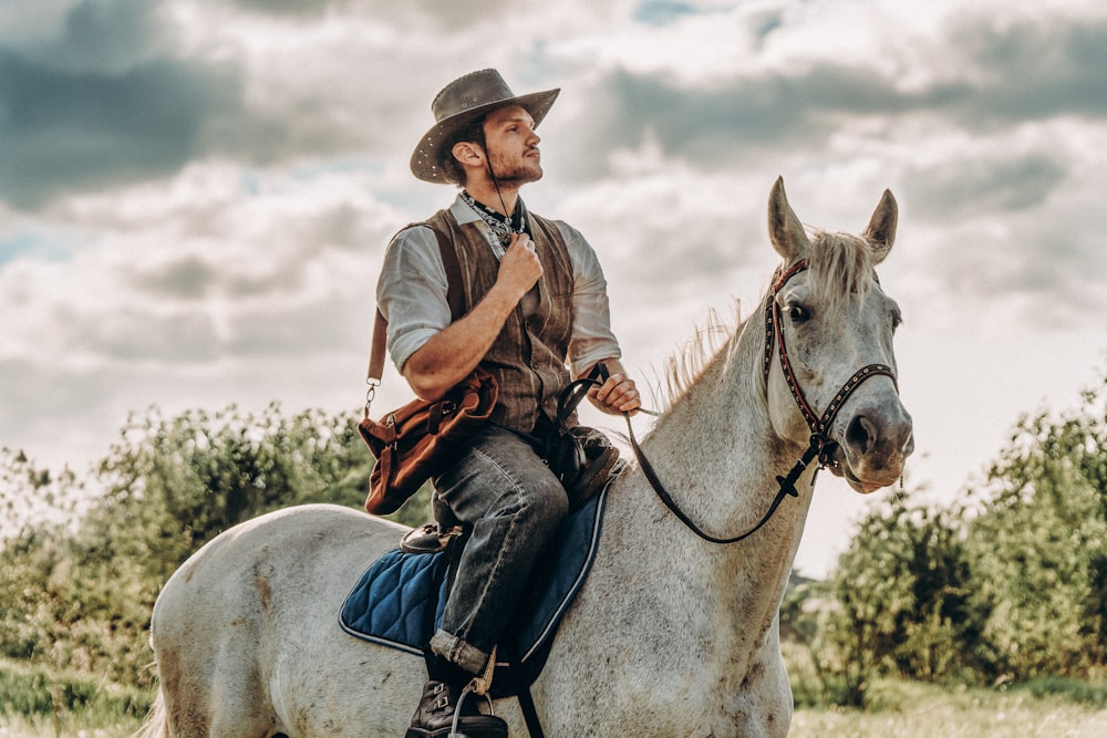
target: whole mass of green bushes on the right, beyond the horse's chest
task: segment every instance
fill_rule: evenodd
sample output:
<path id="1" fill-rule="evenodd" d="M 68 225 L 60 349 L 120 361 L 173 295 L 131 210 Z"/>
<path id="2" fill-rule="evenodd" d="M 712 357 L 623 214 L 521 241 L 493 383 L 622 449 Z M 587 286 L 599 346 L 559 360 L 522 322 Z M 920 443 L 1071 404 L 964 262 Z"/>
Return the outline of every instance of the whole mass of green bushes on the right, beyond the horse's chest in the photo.
<path id="1" fill-rule="evenodd" d="M 1101 671 L 1105 406 L 1100 386 L 1076 410 L 1023 417 L 963 505 L 897 496 L 861 522 L 808 636 L 836 701 L 862 705 L 882 673 L 994 683 Z"/>

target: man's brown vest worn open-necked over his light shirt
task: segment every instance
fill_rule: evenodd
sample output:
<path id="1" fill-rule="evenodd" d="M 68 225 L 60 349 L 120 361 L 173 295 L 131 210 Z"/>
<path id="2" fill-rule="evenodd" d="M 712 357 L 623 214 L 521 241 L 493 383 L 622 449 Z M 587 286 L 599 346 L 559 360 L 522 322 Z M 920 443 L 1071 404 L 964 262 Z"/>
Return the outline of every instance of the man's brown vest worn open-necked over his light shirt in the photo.
<path id="1" fill-rule="evenodd" d="M 558 396 L 571 380 L 566 367 L 573 322 L 569 248 L 551 221 L 534 214 L 528 217 L 542 264 L 536 288 L 538 308 L 525 318 L 523 308 L 516 305 L 480 362 L 499 382 L 492 420 L 519 433 L 531 433 L 539 414 L 557 416 Z M 439 210 L 427 222 L 454 243 L 468 312 L 496 282 L 499 261 L 475 222 L 459 225 L 448 210 Z"/>

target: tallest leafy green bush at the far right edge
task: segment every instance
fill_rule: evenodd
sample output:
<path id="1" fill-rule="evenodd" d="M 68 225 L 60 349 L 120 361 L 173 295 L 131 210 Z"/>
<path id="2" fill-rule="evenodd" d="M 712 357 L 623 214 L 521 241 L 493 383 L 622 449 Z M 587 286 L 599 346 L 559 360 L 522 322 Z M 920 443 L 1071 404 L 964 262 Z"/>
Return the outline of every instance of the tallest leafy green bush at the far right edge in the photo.
<path id="1" fill-rule="evenodd" d="M 973 495 L 966 544 L 991 678 L 1083 676 L 1107 635 L 1107 413 L 1103 388 L 1057 416 L 1023 417 Z"/>

